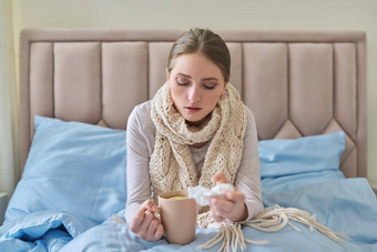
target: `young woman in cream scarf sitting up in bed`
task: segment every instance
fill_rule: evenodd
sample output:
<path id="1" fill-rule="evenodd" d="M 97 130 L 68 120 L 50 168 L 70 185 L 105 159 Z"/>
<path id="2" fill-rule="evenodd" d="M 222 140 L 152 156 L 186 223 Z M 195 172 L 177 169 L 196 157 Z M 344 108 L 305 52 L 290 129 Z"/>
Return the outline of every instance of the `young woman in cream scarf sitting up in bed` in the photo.
<path id="1" fill-rule="evenodd" d="M 245 222 L 263 211 L 256 125 L 230 81 L 231 56 L 223 39 L 205 29 L 173 44 L 164 83 L 134 108 L 128 123 L 125 219 L 140 238 L 164 233 L 157 195 L 228 182 L 235 192 L 212 198 L 197 224 Z"/>

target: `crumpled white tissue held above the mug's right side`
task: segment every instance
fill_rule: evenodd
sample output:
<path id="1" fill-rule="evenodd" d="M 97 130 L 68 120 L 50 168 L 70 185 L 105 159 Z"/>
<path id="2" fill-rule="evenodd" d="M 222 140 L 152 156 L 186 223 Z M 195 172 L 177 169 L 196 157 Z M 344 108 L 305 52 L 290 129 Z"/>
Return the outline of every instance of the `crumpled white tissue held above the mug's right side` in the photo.
<path id="1" fill-rule="evenodd" d="M 201 206 L 210 204 L 210 196 L 222 195 L 225 191 L 234 192 L 234 187 L 227 183 L 221 183 L 213 189 L 203 188 L 202 185 L 188 187 L 188 198 L 194 199 Z"/>

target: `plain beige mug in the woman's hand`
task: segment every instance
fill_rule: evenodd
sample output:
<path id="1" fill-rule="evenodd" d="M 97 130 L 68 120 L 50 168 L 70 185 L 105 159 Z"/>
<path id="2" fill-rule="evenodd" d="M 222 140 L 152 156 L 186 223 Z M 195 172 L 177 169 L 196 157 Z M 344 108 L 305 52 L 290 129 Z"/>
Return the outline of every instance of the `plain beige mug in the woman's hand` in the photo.
<path id="1" fill-rule="evenodd" d="M 181 199 L 171 199 L 171 198 Z M 185 198 L 185 199 L 182 199 Z M 165 236 L 170 243 L 187 244 L 195 238 L 197 206 L 188 199 L 187 191 L 170 191 L 160 194 L 159 208 Z"/>

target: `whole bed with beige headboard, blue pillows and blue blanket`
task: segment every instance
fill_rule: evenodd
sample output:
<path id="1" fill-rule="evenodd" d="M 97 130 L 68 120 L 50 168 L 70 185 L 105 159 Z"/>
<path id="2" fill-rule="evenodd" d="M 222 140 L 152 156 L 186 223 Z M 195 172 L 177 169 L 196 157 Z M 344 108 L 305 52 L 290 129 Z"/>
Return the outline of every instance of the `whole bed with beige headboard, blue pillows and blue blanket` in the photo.
<path id="1" fill-rule="evenodd" d="M 165 79 L 183 30 L 27 29 L 20 39 L 22 178 L 0 228 L 0 251 L 217 251 L 196 229 L 187 245 L 129 231 L 128 117 Z M 377 251 L 377 200 L 367 175 L 364 31 L 215 30 L 231 82 L 254 112 L 263 203 L 297 208 L 335 242 L 293 221 L 243 226 L 246 251 Z M 230 248 L 227 248 L 230 249 Z M 240 250 L 240 248 L 238 248 Z"/>

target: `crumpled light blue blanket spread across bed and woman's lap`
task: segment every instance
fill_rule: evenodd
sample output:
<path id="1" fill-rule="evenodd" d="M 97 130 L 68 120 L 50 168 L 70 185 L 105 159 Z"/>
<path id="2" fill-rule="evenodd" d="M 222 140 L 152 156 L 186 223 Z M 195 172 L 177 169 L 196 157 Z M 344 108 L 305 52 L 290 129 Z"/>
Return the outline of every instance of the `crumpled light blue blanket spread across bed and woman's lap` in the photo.
<path id="1" fill-rule="evenodd" d="M 262 187 L 265 206 L 278 204 L 308 211 L 348 239 L 338 244 L 296 222 L 300 231 L 287 225 L 266 233 L 244 226 L 246 239 L 269 241 L 267 245 L 247 244 L 246 251 L 377 251 L 377 200 L 366 179 L 344 179 L 339 172 L 324 171 L 265 178 Z M 197 229 L 195 240 L 187 245 L 169 244 L 164 239 L 147 242 L 111 216 L 95 223 L 68 212 L 40 211 L 2 225 L 0 251 L 195 251 L 216 233 L 217 230 Z M 218 249 L 216 244 L 202 251 Z"/>

